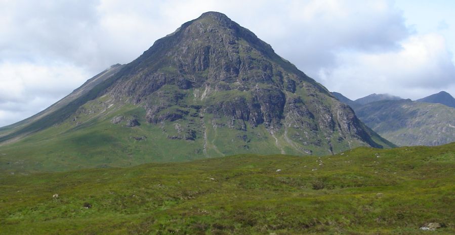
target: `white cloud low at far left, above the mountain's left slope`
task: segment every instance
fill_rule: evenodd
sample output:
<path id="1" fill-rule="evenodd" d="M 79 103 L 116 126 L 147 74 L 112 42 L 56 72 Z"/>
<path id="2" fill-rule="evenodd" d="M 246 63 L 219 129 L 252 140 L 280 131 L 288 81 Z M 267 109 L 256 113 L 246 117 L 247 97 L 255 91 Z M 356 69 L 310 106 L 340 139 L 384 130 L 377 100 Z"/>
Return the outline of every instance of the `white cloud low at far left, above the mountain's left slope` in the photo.
<path id="1" fill-rule="evenodd" d="M 88 77 L 85 70 L 71 64 L 0 64 L 0 126 L 47 108 Z"/>

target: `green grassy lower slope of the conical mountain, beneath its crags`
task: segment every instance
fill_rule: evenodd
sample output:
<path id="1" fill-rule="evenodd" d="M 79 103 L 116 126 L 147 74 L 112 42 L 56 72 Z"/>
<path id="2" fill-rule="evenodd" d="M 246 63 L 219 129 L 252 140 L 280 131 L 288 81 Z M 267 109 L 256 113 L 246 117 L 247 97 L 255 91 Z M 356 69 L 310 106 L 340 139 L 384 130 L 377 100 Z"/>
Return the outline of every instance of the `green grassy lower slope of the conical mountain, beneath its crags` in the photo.
<path id="1" fill-rule="evenodd" d="M 252 130 L 244 131 L 217 124 L 212 115 L 154 125 L 144 118 L 143 108 L 131 104 L 109 105 L 111 100 L 109 96 L 103 96 L 88 102 L 63 123 L 0 147 L 0 171 L 123 167 L 252 152 L 279 154 L 282 150 L 286 154 L 302 154 L 289 144 L 284 132 L 276 132 L 275 139 L 262 125 L 252 127 L 246 123 Z M 125 117 L 124 120 L 113 124 L 112 119 L 120 115 Z M 140 125 L 127 126 L 127 119 L 136 119 Z M 194 126 L 204 126 L 205 133 L 199 131 L 194 133 L 194 139 L 186 139 L 187 132 L 181 129 Z M 363 128 L 376 143 L 394 146 L 368 127 Z M 351 146 L 354 147 L 357 146 Z M 328 154 L 318 151 L 317 147 L 306 148 L 316 155 Z M 350 147 L 334 146 L 335 151 L 341 148 Z"/>

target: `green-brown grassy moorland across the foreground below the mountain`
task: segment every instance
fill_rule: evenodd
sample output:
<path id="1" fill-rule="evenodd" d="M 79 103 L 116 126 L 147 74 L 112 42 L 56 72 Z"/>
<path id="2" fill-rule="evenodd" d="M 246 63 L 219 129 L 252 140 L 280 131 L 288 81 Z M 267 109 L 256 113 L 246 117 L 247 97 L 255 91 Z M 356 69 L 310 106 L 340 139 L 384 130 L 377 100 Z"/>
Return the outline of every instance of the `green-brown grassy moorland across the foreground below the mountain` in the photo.
<path id="1" fill-rule="evenodd" d="M 455 234 L 454 192 L 455 143 L 3 173 L 0 234 Z"/>

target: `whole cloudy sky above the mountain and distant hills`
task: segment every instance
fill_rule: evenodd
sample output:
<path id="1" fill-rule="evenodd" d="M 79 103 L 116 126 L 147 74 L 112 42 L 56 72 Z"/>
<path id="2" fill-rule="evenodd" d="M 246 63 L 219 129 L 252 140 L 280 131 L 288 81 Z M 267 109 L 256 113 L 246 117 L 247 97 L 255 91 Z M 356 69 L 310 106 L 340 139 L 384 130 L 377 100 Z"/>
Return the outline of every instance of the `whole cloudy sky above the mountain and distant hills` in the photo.
<path id="1" fill-rule="evenodd" d="M 455 95 L 455 2 L 0 0 L 0 126 L 49 107 L 208 11 L 226 14 L 330 91 Z"/>

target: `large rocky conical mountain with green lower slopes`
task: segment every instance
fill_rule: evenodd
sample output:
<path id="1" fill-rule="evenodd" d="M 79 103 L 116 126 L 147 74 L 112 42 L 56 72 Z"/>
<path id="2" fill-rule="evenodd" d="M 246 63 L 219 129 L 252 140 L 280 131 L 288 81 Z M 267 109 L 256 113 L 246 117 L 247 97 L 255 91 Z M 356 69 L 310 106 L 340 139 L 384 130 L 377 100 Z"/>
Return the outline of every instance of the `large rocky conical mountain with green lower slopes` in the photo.
<path id="1" fill-rule="evenodd" d="M 391 147 L 250 30 L 208 12 L 48 110 L 0 129 L 24 169 L 125 166 L 239 153 Z"/>

